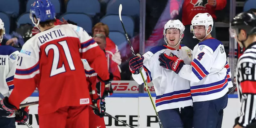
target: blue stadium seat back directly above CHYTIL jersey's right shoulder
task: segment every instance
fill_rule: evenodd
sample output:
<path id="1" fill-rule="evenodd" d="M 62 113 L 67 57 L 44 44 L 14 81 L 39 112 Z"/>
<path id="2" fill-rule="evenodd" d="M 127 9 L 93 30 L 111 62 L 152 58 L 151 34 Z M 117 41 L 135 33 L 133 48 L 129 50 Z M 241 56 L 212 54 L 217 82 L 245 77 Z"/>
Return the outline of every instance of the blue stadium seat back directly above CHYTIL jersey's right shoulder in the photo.
<path id="1" fill-rule="evenodd" d="M 71 20 L 77 23 L 77 26 L 84 28 L 87 33 L 92 33 L 92 19 L 88 15 L 83 13 L 65 13 L 60 16 L 60 19 L 62 17 L 65 20 Z"/>

